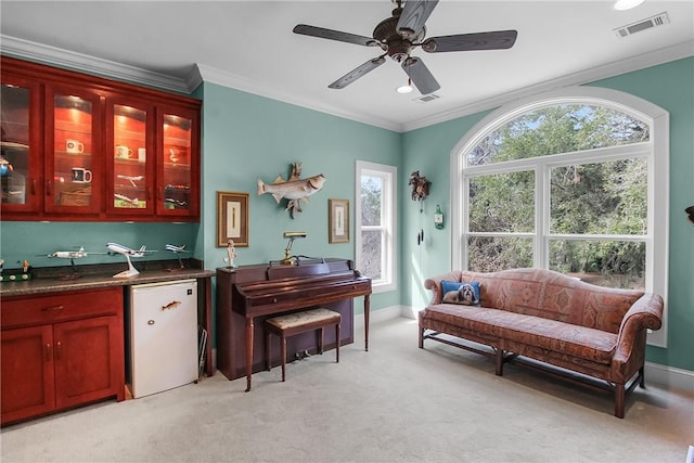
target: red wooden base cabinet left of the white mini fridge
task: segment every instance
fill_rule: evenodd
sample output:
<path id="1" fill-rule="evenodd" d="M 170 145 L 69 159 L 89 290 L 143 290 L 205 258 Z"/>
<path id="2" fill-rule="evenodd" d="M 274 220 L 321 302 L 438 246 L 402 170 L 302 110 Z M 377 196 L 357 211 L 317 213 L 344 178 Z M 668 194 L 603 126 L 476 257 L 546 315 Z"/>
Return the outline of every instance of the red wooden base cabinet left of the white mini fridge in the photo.
<path id="1" fill-rule="evenodd" d="M 125 399 L 123 287 L 3 298 L 2 424 Z"/>

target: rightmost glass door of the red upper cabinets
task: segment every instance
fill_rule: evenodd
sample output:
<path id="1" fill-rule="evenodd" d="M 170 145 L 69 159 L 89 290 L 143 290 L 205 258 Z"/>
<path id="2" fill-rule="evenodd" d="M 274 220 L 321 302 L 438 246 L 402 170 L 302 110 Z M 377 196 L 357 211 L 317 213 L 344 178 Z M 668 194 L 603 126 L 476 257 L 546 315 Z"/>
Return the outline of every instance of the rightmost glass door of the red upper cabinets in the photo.
<path id="1" fill-rule="evenodd" d="M 157 214 L 197 214 L 197 117 L 194 113 L 163 110 L 158 116 L 160 159 L 157 168 Z"/>

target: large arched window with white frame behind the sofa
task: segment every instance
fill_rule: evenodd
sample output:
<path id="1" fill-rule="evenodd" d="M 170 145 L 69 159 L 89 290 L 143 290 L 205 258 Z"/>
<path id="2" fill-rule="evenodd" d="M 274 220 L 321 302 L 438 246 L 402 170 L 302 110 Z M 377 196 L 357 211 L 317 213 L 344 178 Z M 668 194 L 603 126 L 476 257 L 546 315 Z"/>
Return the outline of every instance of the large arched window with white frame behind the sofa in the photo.
<path id="1" fill-rule="evenodd" d="M 667 112 L 613 90 L 497 110 L 451 153 L 453 268 L 547 268 L 665 297 L 668 140 Z"/>

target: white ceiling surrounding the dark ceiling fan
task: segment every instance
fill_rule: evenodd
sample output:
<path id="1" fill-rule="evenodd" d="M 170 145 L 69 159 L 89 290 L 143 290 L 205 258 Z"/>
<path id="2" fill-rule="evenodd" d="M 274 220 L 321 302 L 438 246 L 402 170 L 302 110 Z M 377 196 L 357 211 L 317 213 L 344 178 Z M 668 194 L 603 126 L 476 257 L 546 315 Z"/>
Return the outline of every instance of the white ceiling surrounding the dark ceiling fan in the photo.
<path id="1" fill-rule="evenodd" d="M 292 33 L 304 23 L 371 37 L 394 8 L 388 0 L 2 0 L 0 34 L 3 53 L 178 90 L 203 78 L 398 131 L 694 55 L 692 0 L 646 0 L 630 11 L 614 10 L 611 0 L 440 0 L 427 37 L 516 29 L 518 38 L 510 50 L 416 49 L 441 85 L 439 98 L 423 103 L 416 90 L 396 93 L 407 76 L 390 60 L 343 90 L 329 89 L 380 50 Z M 663 12 L 665 26 L 626 38 L 613 30 Z"/>

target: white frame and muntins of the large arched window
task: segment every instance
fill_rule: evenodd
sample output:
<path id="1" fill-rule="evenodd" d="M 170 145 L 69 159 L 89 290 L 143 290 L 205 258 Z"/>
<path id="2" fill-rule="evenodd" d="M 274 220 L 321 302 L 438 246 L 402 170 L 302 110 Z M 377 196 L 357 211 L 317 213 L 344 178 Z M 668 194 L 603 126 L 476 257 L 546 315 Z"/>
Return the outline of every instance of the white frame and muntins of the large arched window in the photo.
<path id="1" fill-rule="evenodd" d="M 450 156 L 451 166 L 451 268 L 464 270 L 467 265 L 466 237 L 467 237 L 467 211 L 468 178 L 478 167 L 466 166 L 466 154 L 477 145 L 490 130 L 493 130 L 523 114 L 542 107 L 562 104 L 584 104 L 606 106 L 618 112 L 629 114 L 637 119 L 644 120 L 651 126 L 650 140 L 626 146 L 615 146 L 604 150 L 583 151 L 573 159 L 557 156 L 543 156 L 534 158 L 532 169 L 536 170 L 536 204 L 544 204 L 549 195 L 549 187 L 540 183 L 539 178 L 544 177 L 552 167 L 564 165 L 567 160 L 606 160 L 604 153 L 609 152 L 617 158 L 645 157 L 648 164 L 648 192 L 647 192 L 647 232 L 642 237 L 646 243 L 646 292 L 663 296 L 665 309 L 663 312 L 663 327 L 648 333 L 647 343 L 658 347 L 667 347 L 667 293 L 668 293 L 668 236 L 669 236 L 669 172 L 670 172 L 670 121 L 669 113 L 661 107 L 642 100 L 638 97 L 617 90 L 595 87 L 571 87 L 555 90 L 531 98 L 518 100 L 504 105 L 477 123 L 453 147 Z M 627 155 L 626 153 L 630 153 Z M 487 166 L 485 172 L 497 170 L 500 172 L 517 170 L 526 159 L 504 163 L 500 166 Z M 549 217 L 544 209 L 538 207 L 536 217 L 536 253 L 534 266 L 548 268 L 547 249 L 550 237 Z M 621 236 L 620 236 L 621 237 Z M 626 236 L 628 239 L 628 236 Z"/>

